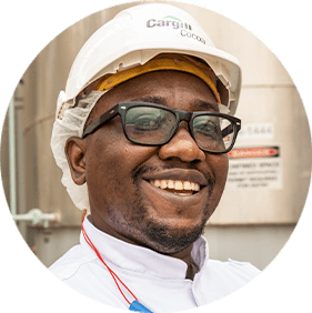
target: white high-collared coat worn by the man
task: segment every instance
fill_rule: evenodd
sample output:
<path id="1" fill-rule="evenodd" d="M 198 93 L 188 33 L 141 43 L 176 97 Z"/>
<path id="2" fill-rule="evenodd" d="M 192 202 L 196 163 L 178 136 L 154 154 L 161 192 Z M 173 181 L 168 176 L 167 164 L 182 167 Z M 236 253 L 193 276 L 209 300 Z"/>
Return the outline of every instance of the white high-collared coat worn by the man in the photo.
<path id="1" fill-rule="evenodd" d="M 185 279 L 187 264 L 150 249 L 129 244 L 92 225 L 90 215 L 84 230 L 107 264 L 152 312 L 179 312 L 219 301 L 243 287 L 261 272 L 248 262 L 210 260 L 207 242 L 193 244 L 192 259 L 200 267 L 193 281 Z M 97 302 L 129 310 L 111 274 L 88 245 L 70 249 L 49 267 L 69 287 Z M 123 287 L 130 302 L 134 299 Z"/>

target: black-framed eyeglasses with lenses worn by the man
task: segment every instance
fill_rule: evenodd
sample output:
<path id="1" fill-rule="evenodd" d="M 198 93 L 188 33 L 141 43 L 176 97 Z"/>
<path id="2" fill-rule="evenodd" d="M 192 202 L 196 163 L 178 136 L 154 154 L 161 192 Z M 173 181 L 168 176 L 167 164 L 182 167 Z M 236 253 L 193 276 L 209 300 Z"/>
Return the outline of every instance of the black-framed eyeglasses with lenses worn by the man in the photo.
<path id="1" fill-rule="evenodd" d="M 210 153 L 229 152 L 241 129 L 241 120 L 228 114 L 201 111 L 187 112 L 147 102 L 120 102 L 94 120 L 82 138 L 95 132 L 117 115 L 121 117 L 125 138 L 141 145 L 162 145 L 175 134 L 181 121 L 198 147 Z"/>

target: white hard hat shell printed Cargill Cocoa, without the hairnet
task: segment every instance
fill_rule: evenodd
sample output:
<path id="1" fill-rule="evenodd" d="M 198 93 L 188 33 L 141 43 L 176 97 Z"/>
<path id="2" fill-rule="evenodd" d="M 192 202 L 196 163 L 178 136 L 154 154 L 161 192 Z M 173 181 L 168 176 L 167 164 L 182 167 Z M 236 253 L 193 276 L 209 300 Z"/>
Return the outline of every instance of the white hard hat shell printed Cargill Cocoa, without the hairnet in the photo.
<path id="1" fill-rule="evenodd" d="M 183 53 L 204 60 L 227 88 L 230 114 L 234 114 L 241 90 L 241 69 L 233 55 L 214 47 L 200 24 L 180 8 L 144 3 L 118 13 L 95 31 L 77 55 L 58 100 L 57 118 L 72 107 L 91 82 L 144 64 L 163 52 Z"/>

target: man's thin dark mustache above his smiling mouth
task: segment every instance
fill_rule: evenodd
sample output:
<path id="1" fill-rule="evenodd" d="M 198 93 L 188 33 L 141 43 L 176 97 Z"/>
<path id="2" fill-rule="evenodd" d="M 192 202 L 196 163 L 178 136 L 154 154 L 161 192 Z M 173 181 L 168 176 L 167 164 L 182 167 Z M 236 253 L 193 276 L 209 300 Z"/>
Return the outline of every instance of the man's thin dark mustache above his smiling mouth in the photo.
<path id="1" fill-rule="evenodd" d="M 139 165 L 138 168 L 135 168 L 132 171 L 132 181 L 133 184 L 138 184 L 139 180 L 141 179 L 142 175 L 144 174 L 152 174 L 155 173 L 158 171 L 162 171 L 162 170 L 171 170 L 171 169 L 181 169 L 181 170 L 197 170 L 199 172 L 201 172 L 204 178 L 208 181 L 208 186 L 210 189 L 210 193 L 212 192 L 212 190 L 214 189 L 215 185 L 215 178 L 214 175 L 212 175 L 210 172 L 203 172 L 201 171 L 195 162 L 190 162 L 190 163 L 181 163 L 181 162 L 170 162 L 170 163 L 164 163 L 162 165 L 159 166 L 150 166 L 150 165 Z"/>

